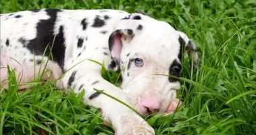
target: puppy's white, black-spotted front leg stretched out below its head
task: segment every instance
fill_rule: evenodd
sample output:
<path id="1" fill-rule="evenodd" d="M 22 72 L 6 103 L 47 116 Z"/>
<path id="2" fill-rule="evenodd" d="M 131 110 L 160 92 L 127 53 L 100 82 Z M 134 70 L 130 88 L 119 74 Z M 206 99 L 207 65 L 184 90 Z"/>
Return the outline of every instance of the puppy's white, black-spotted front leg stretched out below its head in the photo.
<path id="1" fill-rule="evenodd" d="M 113 124 L 116 134 L 155 134 L 153 128 L 131 109 L 94 90 L 102 90 L 130 105 L 126 94 L 104 80 L 98 70 L 84 67 L 70 70 L 63 77 L 63 86 L 73 88 L 76 93 L 84 89 L 84 103 L 100 108 L 103 117 Z"/>

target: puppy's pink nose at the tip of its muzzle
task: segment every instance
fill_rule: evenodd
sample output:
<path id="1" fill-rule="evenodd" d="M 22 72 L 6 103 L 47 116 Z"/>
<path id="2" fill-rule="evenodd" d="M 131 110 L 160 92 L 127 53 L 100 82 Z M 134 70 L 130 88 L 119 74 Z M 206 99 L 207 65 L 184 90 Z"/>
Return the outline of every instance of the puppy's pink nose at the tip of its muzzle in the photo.
<path id="1" fill-rule="evenodd" d="M 149 115 L 151 113 L 157 113 L 160 109 L 161 103 L 156 97 L 145 97 L 138 103 L 140 111 L 143 114 Z"/>

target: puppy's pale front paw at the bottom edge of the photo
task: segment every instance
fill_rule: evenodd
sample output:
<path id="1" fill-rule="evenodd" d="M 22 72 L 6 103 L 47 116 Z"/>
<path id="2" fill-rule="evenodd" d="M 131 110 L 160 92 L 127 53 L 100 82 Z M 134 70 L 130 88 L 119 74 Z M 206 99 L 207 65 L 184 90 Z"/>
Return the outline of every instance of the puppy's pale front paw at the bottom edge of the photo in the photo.
<path id="1" fill-rule="evenodd" d="M 155 130 L 138 115 L 124 115 L 117 121 L 116 135 L 154 135 Z"/>

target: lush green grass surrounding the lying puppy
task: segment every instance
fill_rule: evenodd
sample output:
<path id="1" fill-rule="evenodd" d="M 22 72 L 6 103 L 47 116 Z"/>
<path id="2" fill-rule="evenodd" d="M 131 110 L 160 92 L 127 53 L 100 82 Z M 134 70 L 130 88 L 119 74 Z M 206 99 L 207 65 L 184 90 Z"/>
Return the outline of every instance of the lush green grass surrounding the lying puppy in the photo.
<path id="1" fill-rule="evenodd" d="M 190 72 L 185 55 L 178 91 L 183 104 L 172 115 L 147 119 L 156 134 L 256 133 L 255 0 L 1 1 L 1 13 L 43 7 L 143 11 L 193 39 L 199 71 Z M 113 134 L 97 109 L 82 103 L 83 93 L 65 94 L 48 80 L 17 92 L 10 73 L 9 90 L 0 90 L 0 134 Z"/>

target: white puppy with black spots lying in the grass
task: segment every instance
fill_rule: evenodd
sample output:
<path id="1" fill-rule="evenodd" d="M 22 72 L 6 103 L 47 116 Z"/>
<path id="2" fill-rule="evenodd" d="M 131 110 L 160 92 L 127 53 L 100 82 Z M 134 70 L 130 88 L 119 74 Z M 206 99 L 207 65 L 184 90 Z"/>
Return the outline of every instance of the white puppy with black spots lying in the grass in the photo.
<path id="1" fill-rule="evenodd" d="M 197 69 L 196 47 L 186 34 L 143 14 L 111 9 L 1 14 L 1 86 L 7 88 L 7 65 L 16 69 L 17 78 L 23 73 L 21 82 L 32 80 L 34 72 L 42 74 L 42 65 L 53 78 L 68 71 L 57 86 L 77 93 L 85 89 L 84 103 L 101 108 L 116 134 L 155 134 L 136 113 L 94 88 L 143 115 L 172 113 L 180 82 L 156 74 L 178 76 L 183 49 L 193 55 Z M 86 59 L 103 62 L 108 70 L 120 69 L 121 88 L 104 80 L 101 66 Z"/>

